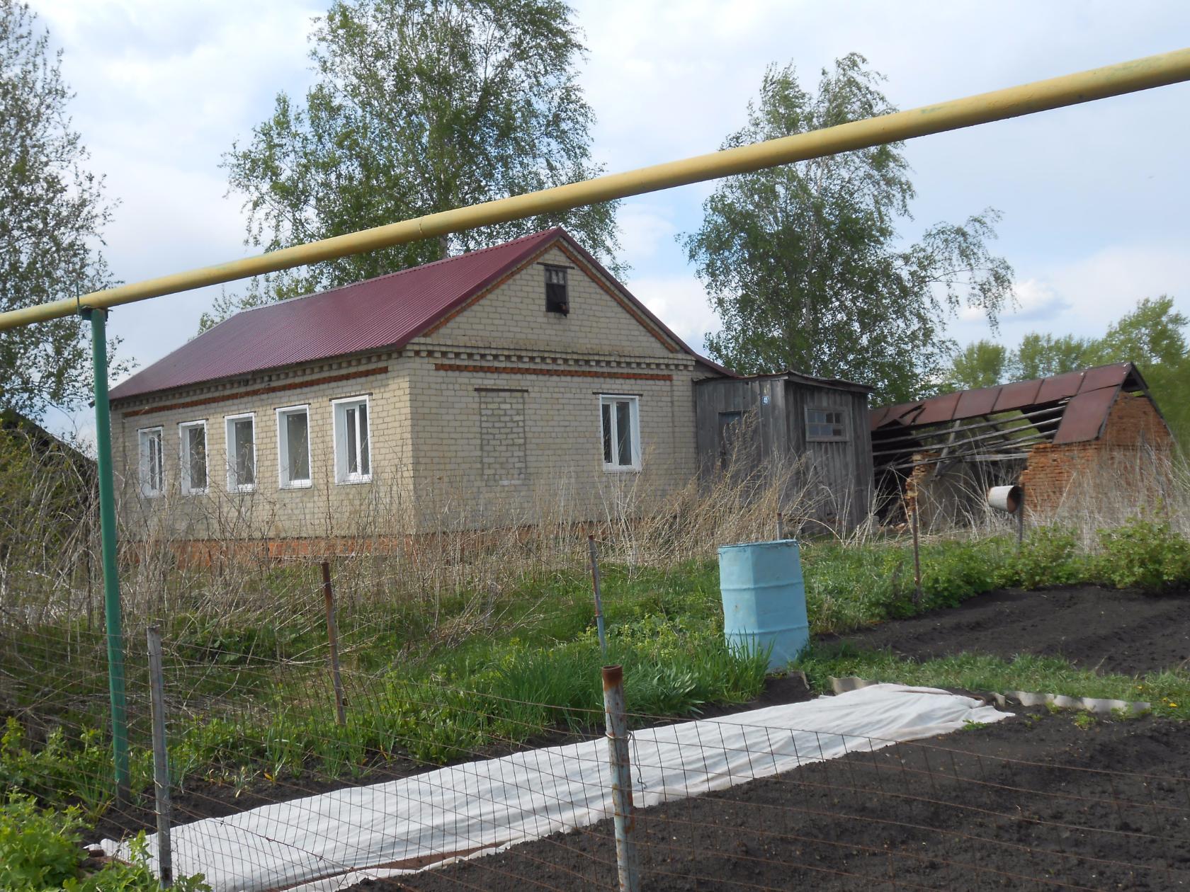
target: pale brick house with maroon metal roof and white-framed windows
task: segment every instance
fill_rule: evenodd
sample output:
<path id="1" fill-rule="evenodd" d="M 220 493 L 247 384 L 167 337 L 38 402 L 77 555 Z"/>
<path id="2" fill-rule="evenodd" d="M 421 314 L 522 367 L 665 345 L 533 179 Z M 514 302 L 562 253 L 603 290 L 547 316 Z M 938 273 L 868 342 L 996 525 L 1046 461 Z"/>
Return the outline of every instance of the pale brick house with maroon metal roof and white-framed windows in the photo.
<path id="1" fill-rule="evenodd" d="M 114 387 L 121 515 L 299 548 L 600 517 L 694 477 L 693 385 L 725 373 L 549 230 L 242 312 Z"/>

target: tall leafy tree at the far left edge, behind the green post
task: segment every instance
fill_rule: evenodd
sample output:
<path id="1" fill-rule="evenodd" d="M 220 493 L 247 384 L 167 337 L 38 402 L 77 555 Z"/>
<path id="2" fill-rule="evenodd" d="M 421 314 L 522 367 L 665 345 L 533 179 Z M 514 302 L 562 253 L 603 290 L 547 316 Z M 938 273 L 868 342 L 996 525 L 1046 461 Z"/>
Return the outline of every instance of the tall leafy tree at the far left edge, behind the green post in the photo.
<path id="1" fill-rule="evenodd" d="M 71 96 L 37 17 L 0 0 L 0 310 L 113 284 L 96 247 L 112 205 L 70 127 Z M 88 344 L 77 319 L 0 333 L 0 408 L 40 415 L 84 401 Z"/>

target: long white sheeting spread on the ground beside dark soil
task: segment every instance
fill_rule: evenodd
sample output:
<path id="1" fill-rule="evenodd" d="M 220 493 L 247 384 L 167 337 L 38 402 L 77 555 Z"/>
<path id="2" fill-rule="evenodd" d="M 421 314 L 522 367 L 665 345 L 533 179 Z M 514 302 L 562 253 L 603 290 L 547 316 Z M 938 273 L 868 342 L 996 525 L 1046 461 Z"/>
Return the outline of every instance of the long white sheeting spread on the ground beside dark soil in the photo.
<path id="1" fill-rule="evenodd" d="M 650 728 L 633 734 L 633 794 L 638 808 L 657 805 L 1009 715 L 947 691 L 878 684 Z M 183 824 L 173 830 L 174 873 L 202 873 L 215 892 L 333 892 L 610 815 L 607 741 L 593 740 Z M 101 844 L 129 856 L 127 844 Z"/>

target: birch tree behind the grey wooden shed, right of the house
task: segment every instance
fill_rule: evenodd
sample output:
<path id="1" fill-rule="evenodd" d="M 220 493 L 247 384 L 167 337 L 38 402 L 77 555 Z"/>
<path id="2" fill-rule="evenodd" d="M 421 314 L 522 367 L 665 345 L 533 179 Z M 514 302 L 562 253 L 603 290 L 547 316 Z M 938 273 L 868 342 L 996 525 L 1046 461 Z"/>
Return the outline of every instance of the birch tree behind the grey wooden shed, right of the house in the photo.
<path id="1" fill-rule="evenodd" d="M 793 65 L 770 67 L 747 124 L 724 147 L 895 111 L 882 76 L 852 54 L 815 94 Z M 914 197 L 901 144 L 729 177 L 683 239 L 722 329 L 712 357 L 744 372 L 796 369 L 872 384 L 877 401 L 937 387 L 957 345 L 947 319 L 964 303 L 995 325 L 1013 272 L 994 257 L 996 211 L 937 224 L 903 245 Z"/>

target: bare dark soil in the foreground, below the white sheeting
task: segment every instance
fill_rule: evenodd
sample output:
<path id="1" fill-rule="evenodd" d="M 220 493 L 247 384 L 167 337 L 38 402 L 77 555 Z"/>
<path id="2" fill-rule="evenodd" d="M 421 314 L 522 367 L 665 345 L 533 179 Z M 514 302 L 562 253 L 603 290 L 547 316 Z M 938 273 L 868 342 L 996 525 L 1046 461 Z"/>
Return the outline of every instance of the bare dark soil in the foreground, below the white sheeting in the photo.
<path id="1" fill-rule="evenodd" d="M 641 888 L 1184 888 L 1188 775 L 1176 722 L 1022 715 L 645 810 Z M 356 888 L 595 887 L 608 822 Z"/>

